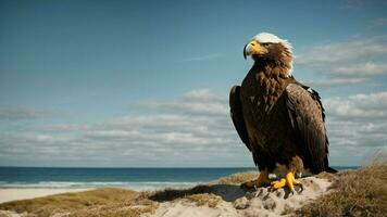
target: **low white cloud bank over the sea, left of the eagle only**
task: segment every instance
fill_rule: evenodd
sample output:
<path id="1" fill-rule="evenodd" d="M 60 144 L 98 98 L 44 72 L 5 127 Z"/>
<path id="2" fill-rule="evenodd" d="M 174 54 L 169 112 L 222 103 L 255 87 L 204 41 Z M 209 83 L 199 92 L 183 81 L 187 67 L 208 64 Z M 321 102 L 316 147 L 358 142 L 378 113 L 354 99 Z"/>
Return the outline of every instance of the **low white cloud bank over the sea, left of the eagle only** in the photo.
<path id="1" fill-rule="evenodd" d="M 253 166 L 228 113 L 228 95 L 194 90 L 178 100 L 148 101 L 141 115 L 104 122 L 59 124 L 45 129 L 3 133 L 3 158 L 92 166 Z M 62 163 L 63 164 L 63 163 Z M 78 165 L 79 166 L 79 165 Z"/>

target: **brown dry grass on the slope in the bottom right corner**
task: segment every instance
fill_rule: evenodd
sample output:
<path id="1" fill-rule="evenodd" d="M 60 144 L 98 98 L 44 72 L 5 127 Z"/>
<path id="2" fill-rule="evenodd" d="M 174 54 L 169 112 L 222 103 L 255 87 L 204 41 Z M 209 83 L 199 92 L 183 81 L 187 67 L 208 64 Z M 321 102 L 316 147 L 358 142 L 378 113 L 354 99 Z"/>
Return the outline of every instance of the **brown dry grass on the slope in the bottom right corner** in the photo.
<path id="1" fill-rule="evenodd" d="M 335 192 L 296 212 L 296 216 L 386 216 L 387 165 L 338 175 Z"/>

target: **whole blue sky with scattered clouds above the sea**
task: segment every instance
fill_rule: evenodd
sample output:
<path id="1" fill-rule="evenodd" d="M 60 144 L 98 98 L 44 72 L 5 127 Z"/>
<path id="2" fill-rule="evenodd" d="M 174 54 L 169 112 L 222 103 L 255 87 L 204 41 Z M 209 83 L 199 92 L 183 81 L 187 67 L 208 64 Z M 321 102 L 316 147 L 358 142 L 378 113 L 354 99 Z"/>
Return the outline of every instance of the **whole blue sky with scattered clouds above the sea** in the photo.
<path id="1" fill-rule="evenodd" d="M 252 166 L 228 91 L 260 31 L 323 97 L 333 165 L 387 146 L 383 1 L 0 1 L 0 165 Z"/>

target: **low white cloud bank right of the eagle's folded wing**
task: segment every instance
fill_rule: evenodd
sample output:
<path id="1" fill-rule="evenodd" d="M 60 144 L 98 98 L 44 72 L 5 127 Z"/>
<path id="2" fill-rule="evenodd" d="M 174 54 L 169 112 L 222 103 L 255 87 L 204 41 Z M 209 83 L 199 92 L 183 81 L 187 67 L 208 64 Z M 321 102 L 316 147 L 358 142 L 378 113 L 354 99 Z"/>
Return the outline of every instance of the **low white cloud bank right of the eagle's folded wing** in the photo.
<path id="1" fill-rule="evenodd" d="M 386 100 L 387 92 L 323 100 L 332 158 L 365 164 L 376 151 L 387 148 Z"/>

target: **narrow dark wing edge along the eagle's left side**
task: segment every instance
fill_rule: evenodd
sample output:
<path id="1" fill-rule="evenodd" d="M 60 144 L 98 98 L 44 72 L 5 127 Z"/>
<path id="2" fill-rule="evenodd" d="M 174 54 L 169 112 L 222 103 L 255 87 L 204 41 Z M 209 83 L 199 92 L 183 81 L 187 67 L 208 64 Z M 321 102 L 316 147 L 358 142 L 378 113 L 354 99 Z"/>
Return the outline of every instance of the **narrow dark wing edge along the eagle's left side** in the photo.
<path id="1" fill-rule="evenodd" d="M 242 142 L 251 152 L 251 145 L 249 142 L 249 136 L 246 129 L 246 123 L 240 103 L 240 86 L 234 86 L 232 88 L 229 93 L 229 107 L 235 129 L 237 130 Z"/>

